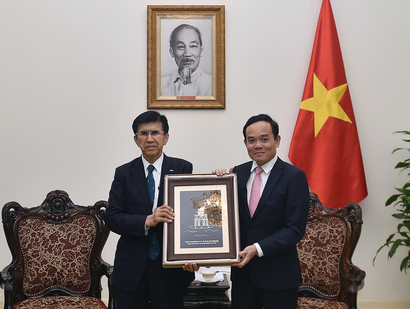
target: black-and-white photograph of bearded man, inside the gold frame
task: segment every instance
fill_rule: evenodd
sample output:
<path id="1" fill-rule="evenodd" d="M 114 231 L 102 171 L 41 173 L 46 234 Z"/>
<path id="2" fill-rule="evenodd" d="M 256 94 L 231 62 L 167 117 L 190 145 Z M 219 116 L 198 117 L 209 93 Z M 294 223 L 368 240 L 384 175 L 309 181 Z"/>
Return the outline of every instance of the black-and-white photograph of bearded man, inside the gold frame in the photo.
<path id="1" fill-rule="evenodd" d="M 211 19 L 161 20 L 161 95 L 212 95 Z"/>

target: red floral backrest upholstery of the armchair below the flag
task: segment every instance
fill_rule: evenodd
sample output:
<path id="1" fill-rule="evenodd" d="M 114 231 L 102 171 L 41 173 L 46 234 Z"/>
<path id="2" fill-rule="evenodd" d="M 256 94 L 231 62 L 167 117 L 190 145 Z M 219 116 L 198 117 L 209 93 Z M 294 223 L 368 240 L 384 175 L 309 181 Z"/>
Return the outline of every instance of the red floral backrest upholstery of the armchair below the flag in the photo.
<path id="1" fill-rule="evenodd" d="M 346 241 L 346 225 L 338 218 L 308 223 L 297 245 L 303 283 L 324 296 L 340 292 L 339 264 Z"/>

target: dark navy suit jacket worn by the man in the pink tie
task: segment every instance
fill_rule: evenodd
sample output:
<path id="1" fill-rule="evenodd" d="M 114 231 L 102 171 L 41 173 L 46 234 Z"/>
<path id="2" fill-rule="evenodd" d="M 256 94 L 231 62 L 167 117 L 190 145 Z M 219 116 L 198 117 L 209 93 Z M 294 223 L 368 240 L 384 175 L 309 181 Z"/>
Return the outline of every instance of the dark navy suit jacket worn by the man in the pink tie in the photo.
<path id="1" fill-rule="evenodd" d="M 252 280 L 265 290 L 298 288 L 301 277 L 296 244 L 304 235 L 310 205 L 306 176 L 278 158 L 251 218 L 246 189 L 251 167 L 252 161 L 233 168 L 238 182 L 241 250 L 258 243 L 264 256 L 256 255 L 242 268 L 231 267 L 231 280 Z"/>

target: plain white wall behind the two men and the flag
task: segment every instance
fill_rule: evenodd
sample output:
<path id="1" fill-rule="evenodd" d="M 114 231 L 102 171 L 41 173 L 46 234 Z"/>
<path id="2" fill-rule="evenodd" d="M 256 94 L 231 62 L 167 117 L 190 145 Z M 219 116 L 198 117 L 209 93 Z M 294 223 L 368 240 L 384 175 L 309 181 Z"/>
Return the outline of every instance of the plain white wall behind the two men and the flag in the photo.
<path id="1" fill-rule="evenodd" d="M 147 104 L 147 5 L 193 3 L 226 6 L 226 110 L 163 110 L 165 153 L 191 161 L 194 173 L 242 163 L 245 121 L 268 113 L 288 161 L 321 0 L 3 0 L 1 204 L 34 207 L 54 189 L 83 205 L 108 199 L 115 167 L 140 154 L 131 123 Z M 369 191 L 353 257 L 367 273 L 359 299 L 410 299 L 400 256 L 387 261 L 384 251 L 372 265 L 397 225 L 384 203 L 405 181 L 394 166 L 407 154 L 391 152 L 403 146 L 392 132 L 410 129 L 410 2 L 331 3 Z M 104 251 L 110 263 L 117 239 L 111 234 Z M 0 248 L 3 268 L 11 261 L 3 232 Z"/>

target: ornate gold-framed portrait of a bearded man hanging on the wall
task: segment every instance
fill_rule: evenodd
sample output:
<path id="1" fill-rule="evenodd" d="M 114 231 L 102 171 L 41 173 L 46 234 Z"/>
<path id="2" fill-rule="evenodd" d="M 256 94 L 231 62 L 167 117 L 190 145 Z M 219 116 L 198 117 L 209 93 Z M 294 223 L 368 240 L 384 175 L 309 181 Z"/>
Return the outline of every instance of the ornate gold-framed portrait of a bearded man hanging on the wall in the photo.
<path id="1" fill-rule="evenodd" d="M 147 108 L 225 109 L 225 6 L 148 6 Z"/>

